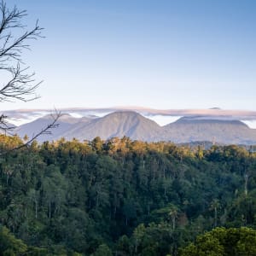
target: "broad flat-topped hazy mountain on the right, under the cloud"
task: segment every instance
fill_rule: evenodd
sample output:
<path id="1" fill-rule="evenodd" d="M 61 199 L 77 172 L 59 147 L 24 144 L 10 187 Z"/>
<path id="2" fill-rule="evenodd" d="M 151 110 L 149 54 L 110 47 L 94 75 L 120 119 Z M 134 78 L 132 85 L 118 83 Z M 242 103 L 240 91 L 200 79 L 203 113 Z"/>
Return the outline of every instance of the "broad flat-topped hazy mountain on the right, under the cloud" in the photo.
<path id="1" fill-rule="evenodd" d="M 162 129 L 161 139 L 174 143 L 256 143 L 256 131 L 238 120 L 182 118 Z"/>

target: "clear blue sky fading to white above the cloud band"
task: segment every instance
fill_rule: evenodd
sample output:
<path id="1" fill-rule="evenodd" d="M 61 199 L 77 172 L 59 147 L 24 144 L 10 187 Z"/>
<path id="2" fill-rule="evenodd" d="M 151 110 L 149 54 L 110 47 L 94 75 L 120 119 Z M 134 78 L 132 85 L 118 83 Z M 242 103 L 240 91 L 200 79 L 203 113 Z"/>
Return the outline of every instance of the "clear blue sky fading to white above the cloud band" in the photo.
<path id="1" fill-rule="evenodd" d="M 41 96 L 15 108 L 256 110 L 254 0 L 8 0 L 44 37 L 22 58 Z"/>

